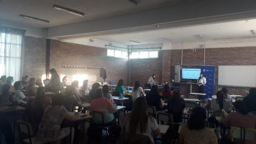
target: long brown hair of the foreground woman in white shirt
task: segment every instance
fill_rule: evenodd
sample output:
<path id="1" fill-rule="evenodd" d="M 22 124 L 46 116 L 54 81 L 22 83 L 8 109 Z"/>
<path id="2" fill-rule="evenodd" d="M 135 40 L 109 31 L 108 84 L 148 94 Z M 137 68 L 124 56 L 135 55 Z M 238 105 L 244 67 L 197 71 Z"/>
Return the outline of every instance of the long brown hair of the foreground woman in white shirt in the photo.
<path id="1" fill-rule="evenodd" d="M 147 101 L 144 97 L 139 97 L 133 103 L 131 113 L 127 114 L 129 121 L 129 133 L 134 134 L 140 130 L 140 134 L 145 133 L 148 125 L 148 118 L 153 122 L 153 117 L 147 113 Z M 126 121 L 124 121 L 126 123 Z"/>

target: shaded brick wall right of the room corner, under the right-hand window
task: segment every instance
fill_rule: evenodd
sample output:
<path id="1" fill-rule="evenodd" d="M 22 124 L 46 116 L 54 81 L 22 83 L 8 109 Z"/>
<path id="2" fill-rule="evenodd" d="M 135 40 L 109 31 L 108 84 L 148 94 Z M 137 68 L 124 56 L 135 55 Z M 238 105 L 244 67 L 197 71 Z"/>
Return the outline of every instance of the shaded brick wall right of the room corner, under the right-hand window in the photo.
<path id="1" fill-rule="evenodd" d="M 131 59 L 131 83 L 134 86 L 135 81 L 139 80 L 140 85 L 144 87 L 152 74 L 156 75 L 155 80 L 162 82 L 162 51 L 159 51 L 158 58 Z"/>

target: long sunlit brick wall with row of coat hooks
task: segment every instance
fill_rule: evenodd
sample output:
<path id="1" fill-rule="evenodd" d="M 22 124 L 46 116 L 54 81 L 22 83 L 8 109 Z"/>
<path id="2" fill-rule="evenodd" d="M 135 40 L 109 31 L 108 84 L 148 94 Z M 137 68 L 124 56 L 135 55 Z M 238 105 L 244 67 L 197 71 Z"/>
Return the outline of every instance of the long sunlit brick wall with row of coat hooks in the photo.
<path id="1" fill-rule="evenodd" d="M 99 69 L 63 68 L 62 65 L 106 68 L 106 82 L 117 84 L 119 79 L 127 85 L 127 59 L 107 57 L 107 49 L 75 43 L 50 41 L 50 68 L 55 68 L 59 75 L 68 77 L 71 84 L 72 76 L 76 74 L 88 75 L 89 85 L 104 82 L 99 77 Z"/>

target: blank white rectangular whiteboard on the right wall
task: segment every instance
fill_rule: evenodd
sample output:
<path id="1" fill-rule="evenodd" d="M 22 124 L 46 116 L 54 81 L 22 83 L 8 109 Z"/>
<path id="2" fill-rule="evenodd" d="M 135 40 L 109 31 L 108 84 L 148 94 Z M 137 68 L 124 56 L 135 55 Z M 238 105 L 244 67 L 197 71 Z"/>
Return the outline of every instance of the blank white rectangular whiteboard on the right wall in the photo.
<path id="1" fill-rule="evenodd" d="M 256 87 L 256 65 L 219 65 L 218 85 Z"/>

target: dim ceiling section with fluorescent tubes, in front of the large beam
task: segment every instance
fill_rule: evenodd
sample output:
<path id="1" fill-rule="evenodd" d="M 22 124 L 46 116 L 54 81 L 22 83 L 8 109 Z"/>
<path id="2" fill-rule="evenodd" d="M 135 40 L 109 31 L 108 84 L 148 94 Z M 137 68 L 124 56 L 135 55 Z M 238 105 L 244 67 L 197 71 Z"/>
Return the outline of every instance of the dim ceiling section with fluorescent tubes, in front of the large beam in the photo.
<path id="1" fill-rule="evenodd" d="M 138 1 L 138 5 L 132 4 L 128 0 L 0 0 L 0 19 L 27 24 L 28 26 L 45 28 L 143 11 L 194 0 L 135 1 Z M 82 17 L 56 10 L 52 7 L 53 4 L 84 12 L 85 16 Z M 20 14 L 49 20 L 50 23 L 20 18 Z"/>

